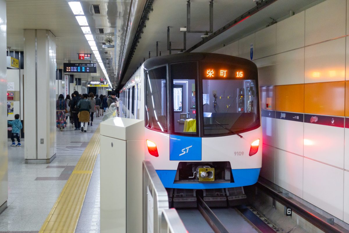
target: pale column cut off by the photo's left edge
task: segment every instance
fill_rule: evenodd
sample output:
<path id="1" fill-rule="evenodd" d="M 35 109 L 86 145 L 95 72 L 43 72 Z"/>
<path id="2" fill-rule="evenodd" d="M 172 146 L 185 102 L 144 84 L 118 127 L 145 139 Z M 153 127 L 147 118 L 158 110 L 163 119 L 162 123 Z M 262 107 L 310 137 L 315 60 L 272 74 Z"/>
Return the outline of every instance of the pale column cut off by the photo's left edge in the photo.
<path id="1" fill-rule="evenodd" d="M 6 50 L 6 0 L 0 0 L 0 51 Z M 6 53 L 0 56 L 0 213 L 7 206 Z"/>

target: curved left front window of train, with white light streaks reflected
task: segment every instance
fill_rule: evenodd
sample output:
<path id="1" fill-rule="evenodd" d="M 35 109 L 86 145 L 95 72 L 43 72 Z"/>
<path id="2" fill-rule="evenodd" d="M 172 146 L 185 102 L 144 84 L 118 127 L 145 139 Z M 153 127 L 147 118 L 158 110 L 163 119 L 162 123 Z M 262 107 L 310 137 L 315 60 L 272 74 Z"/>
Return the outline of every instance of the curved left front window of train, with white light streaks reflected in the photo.
<path id="1" fill-rule="evenodd" d="M 149 70 L 144 75 L 146 127 L 167 132 L 166 66 Z"/>

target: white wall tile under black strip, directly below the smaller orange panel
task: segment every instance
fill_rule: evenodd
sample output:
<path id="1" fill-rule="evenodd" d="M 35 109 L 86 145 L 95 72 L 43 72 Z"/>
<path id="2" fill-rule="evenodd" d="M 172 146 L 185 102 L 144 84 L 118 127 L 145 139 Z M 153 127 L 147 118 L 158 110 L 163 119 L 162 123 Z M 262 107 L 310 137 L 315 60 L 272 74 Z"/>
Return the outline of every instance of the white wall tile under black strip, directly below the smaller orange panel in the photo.
<path id="1" fill-rule="evenodd" d="M 303 126 L 303 122 L 276 119 L 275 147 L 303 155 Z"/>

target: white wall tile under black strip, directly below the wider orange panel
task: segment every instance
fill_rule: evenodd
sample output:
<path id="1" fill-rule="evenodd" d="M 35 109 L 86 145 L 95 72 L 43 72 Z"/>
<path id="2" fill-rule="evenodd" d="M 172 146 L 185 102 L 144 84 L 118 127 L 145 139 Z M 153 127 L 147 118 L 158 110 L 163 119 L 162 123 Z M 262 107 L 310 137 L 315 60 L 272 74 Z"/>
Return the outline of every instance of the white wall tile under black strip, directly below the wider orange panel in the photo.
<path id="1" fill-rule="evenodd" d="M 304 123 L 304 156 L 344 167 L 344 128 Z"/>

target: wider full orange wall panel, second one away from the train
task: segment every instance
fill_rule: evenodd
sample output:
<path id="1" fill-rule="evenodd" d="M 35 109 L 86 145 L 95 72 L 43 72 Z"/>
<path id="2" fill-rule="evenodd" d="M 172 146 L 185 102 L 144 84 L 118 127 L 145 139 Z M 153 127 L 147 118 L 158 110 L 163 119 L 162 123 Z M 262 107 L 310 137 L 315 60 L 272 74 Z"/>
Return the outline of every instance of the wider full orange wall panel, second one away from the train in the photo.
<path id="1" fill-rule="evenodd" d="M 345 81 L 306 83 L 304 112 L 344 116 Z"/>

